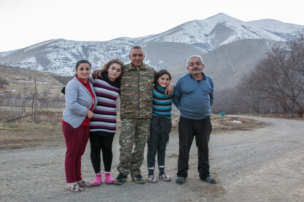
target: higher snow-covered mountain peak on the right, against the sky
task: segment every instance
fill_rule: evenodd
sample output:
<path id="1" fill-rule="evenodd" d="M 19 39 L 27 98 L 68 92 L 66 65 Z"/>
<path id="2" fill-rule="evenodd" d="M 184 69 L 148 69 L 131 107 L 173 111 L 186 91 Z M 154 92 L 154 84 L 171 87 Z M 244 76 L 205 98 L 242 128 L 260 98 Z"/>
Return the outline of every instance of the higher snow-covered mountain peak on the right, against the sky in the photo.
<path id="1" fill-rule="evenodd" d="M 165 31 L 161 34 L 132 39 L 132 42 L 172 41 L 195 45 L 209 52 L 213 49 L 240 39 L 269 39 L 285 41 L 302 25 L 288 24 L 272 19 L 244 22 L 219 13 L 205 20 L 193 20 Z M 131 42 L 130 41 L 130 42 Z"/>

